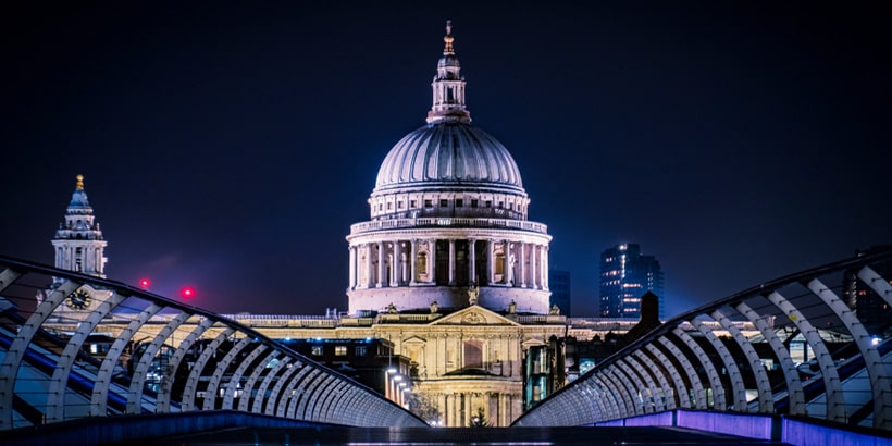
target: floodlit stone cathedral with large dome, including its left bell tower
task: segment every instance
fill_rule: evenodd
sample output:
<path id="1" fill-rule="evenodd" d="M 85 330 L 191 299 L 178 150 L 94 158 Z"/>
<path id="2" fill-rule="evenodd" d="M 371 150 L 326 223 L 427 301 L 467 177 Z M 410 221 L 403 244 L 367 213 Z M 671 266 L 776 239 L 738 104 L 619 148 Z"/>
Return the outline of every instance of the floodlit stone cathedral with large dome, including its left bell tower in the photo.
<path id="1" fill-rule="evenodd" d="M 318 342 L 318 351 L 335 344 L 344 370 L 348 348 L 366 355 L 357 343 L 377 339 L 388 347 L 384 364 L 400 366 L 381 368 L 385 396 L 432 425 L 468 426 L 482 416 L 507 426 L 572 379 L 568 371 L 584 373 L 561 339 L 606 338 L 637 321 L 569 319 L 549 308 L 552 236 L 528 220 L 530 197 L 510 152 L 471 125 L 454 41 L 447 23 L 426 123 L 386 153 L 370 220 L 346 237 L 348 313 L 227 317 L 274 339 Z M 104 276 L 106 240 L 79 175 L 52 245 L 58 268 Z M 73 297 L 72 315 L 89 313 L 104 297 L 97 293 Z M 164 318 L 146 327 L 157 319 L 160 331 Z M 110 334 L 125 329 L 102 325 Z"/>

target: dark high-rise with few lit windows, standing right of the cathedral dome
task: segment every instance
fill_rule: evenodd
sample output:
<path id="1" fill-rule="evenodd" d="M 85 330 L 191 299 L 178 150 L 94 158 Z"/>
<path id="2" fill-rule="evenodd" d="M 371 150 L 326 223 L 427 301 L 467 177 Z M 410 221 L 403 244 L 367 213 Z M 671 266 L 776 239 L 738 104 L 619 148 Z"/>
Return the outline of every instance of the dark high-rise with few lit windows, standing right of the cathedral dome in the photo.
<path id="1" fill-rule="evenodd" d="M 662 271 L 654 256 L 641 253 L 636 244 L 617 245 L 600 253 L 600 317 L 641 318 L 641 297 L 662 296 Z M 659 317 L 664 317 L 659 299 Z"/>

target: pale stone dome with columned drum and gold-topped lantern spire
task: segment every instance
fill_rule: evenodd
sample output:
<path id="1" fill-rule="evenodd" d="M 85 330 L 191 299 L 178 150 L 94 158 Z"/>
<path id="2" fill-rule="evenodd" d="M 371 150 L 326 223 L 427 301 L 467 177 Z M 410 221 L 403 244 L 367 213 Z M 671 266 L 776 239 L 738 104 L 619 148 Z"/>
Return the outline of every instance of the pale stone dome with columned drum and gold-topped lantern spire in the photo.
<path id="1" fill-rule="evenodd" d="M 371 219 L 350 226 L 350 314 L 494 311 L 546 314 L 548 227 L 526 219 L 515 159 L 471 125 L 451 24 L 426 124 L 384 157 Z"/>

